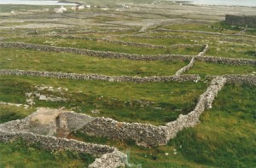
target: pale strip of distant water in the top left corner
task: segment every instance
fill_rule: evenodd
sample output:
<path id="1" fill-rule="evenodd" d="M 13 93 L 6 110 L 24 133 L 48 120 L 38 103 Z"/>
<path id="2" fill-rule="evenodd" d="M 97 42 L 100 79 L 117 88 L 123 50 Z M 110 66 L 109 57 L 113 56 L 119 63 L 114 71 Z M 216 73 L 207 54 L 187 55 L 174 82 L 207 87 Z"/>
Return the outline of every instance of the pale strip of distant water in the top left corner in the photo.
<path id="1" fill-rule="evenodd" d="M 58 3 L 58 1 L 44 0 L 0 0 L 1 4 L 30 4 L 30 5 L 76 5 L 75 3 Z"/>

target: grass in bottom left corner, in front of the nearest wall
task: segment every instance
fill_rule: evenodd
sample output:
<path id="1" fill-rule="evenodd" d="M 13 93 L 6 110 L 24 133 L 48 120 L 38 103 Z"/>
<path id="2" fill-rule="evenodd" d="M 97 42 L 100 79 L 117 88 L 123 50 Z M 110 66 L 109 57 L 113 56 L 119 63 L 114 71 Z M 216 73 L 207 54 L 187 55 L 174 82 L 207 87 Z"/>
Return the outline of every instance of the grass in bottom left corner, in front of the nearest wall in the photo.
<path id="1" fill-rule="evenodd" d="M 44 151 L 22 140 L 0 142 L 0 167 L 87 167 L 94 159 L 90 154 Z"/>

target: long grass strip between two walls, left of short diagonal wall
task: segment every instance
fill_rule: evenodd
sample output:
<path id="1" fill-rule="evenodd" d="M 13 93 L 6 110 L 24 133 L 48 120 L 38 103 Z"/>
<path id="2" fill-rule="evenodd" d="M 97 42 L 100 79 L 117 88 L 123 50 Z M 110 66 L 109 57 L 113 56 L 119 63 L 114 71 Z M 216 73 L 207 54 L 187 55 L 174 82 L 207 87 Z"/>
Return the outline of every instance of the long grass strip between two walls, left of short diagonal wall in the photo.
<path id="1" fill-rule="evenodd" d="M 2 69 L 49 72 L 99 73 L 105 75 L 164 76 L 173 75 L 186 61 L 129 61 L 96 58 L 69 53 L 32 49 L 1 49 Z"/>

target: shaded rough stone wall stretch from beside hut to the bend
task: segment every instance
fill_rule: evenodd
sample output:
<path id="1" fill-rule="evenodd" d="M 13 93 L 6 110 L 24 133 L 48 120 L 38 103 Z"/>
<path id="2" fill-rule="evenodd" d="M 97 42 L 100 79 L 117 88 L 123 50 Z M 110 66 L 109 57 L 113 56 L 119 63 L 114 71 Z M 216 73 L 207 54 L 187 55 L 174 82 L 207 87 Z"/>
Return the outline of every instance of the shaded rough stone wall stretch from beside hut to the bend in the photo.
<path id="1" fill-rule="evenodd" d="M 84 133 L 90 136 L 104 136 L 110 139 L 134 140 L 141 146 L 165 145 L 166 126 L 154 126 L 140 123 L 118 122 L 109 118 L 96 118 L 84 125 Z"/>

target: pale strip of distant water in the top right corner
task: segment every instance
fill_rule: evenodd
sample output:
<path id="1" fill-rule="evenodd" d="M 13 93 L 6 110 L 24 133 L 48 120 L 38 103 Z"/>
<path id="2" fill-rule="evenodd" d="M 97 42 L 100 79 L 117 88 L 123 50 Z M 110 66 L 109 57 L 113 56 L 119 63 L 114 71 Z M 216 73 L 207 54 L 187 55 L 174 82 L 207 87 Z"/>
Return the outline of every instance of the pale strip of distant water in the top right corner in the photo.
<path id="1" fill-rule="evenodd" d="M 177 0 L 179 1 L 179 0 Z M 256 0 L 188 0 L 193 4 L 200 5 L 225 5 L 225 6 L 248 6 L 256 7 Z"/>

